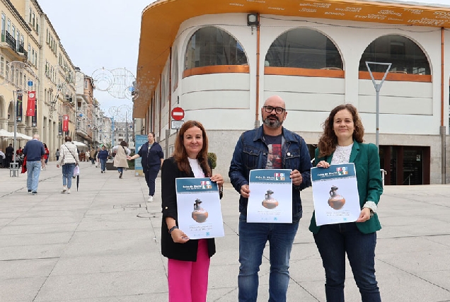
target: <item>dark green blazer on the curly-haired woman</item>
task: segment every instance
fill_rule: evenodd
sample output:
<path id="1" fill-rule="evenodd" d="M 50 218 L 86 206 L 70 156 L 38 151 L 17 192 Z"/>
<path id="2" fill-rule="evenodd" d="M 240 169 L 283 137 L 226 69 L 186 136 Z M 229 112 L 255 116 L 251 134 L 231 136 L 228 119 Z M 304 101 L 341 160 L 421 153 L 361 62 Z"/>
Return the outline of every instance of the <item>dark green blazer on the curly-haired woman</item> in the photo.
<path id="1" fill-rule="evenodd" d="M 319 161 L 331 163 L 333 154 L 325 157 L 318 157 L 318 154 L 319 150 L 316 149 L 315 163 Z M 354 163 L 356 170 L 359 206 L 362 208 L 367 201 L 378 204 L 383 193 L 383 182 L 381 180 L 380 158 L 376 146 L 374 144 L 359 144 L 357 141 L 353 141 L 350 163 Z M 368 221 L 357 223 L 357 227 L 361 233 L 368 234 L 379 231 L 381 224 L 378 215 L 374 214 Z M 316 225 L 316 215 L 313 213 L 309 231 L 316 234 L 320 228 L 320 226 Z"/>

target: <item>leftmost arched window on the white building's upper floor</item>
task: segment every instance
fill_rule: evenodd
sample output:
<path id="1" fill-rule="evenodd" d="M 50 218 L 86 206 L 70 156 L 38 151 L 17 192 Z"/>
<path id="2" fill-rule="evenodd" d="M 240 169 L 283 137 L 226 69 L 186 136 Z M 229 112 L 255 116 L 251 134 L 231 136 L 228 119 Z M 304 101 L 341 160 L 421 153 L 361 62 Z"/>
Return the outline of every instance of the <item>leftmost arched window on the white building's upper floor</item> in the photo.
<path id="1" fill-rule="evenodd" d="M 224 30 L 208 26 L 200 28 L 190 37 L 185 56 L 185 69 L 242 64 L 247 64 L 243 47 Z"/>

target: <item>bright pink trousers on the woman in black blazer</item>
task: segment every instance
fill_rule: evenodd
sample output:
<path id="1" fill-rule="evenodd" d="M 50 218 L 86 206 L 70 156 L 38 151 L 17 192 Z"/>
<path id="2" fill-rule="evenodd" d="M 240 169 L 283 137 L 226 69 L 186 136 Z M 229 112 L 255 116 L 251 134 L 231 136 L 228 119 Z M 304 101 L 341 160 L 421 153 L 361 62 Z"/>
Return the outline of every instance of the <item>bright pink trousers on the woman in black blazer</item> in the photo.
<path id="1" fill-rule="evenodd" d="M 206 239 L 198 240 L 196 262 L 169 259 L 169 302 L 206 302 L 209 262 Z"/>

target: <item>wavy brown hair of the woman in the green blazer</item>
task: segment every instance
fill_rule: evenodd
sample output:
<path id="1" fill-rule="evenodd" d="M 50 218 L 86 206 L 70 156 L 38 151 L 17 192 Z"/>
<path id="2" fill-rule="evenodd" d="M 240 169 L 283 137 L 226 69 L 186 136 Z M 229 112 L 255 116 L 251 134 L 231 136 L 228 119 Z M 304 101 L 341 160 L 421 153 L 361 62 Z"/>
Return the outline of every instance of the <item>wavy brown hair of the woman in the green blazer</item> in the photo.
<path id="1" fill-rule="evenodd" d="M 347 109 L 350 113 L 352 113 L 354 124 L 353 140 L 358 143 L 362 143 L 364 137 L 364 126 L 359 118 L 357 108 L 355 108 L 352 104 L 342 104 L 331 110 L 330 115 L 327 117 L 325 122 L 323 122 L 323 134 L 318 142 L 318 149 L 320 151 L 319 156 L 329 156 L 336 150 L 337 137 L 333 127 L 335 115 L 337 112 L 344 109 Z"/>

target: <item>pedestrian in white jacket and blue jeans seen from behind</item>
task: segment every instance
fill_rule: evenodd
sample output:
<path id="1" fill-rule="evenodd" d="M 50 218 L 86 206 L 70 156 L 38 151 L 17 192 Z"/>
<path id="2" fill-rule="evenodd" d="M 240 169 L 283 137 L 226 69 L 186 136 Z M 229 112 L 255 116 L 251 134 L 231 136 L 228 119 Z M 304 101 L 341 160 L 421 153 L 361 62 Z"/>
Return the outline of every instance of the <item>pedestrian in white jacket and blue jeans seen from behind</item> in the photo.
<path id="1" fill-rule="evenodd" d="M 74 177 L 75 165 L 79 165 L 79 155 L 76 145 L 72 142 L 71 137 L 64 137 L 65 143 L 59 149 L 62 156 L 61 161 L 57 162 L 57 168 L 62 167 L 62 191 L 61 193 L 70 194 L 72 187 L 72 178 Z"/>

